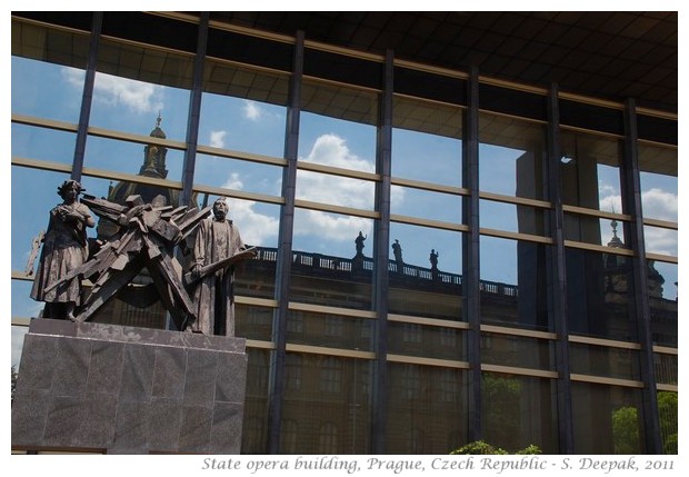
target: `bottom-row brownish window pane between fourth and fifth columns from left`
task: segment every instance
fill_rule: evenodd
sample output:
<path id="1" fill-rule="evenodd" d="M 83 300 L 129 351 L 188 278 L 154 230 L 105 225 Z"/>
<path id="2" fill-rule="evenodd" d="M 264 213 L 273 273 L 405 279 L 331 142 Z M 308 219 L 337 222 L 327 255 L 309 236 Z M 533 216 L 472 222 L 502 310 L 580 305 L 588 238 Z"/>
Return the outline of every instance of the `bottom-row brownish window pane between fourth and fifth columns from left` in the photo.
<path id="1" fill-rule="evenodd" d="M 465 372 L 388 364 L 388 453 L 448 454 L 467 443 Z"/>

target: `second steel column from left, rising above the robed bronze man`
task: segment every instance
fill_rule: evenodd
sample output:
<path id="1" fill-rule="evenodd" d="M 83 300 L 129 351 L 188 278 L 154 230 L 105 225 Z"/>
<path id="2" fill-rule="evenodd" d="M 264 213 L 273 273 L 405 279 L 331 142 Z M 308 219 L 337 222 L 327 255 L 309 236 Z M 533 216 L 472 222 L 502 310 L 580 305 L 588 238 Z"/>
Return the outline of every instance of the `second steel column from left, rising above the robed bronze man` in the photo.
<path id="1" fill-rule="evenodd" d="M 201 12 L 199 19 L 199 36 L 197 54 L 193 59 L 193 78 L 191 82 L 191 96 L 189 98 L 189 116 L 187 118 L 187 150 L 182 166 L 182 193 L 180 206 L 191 203 L 193 188 L 193 170 L 197 162 L 197 147 L 199 143 L 199 122 L 201 118 L 201 92 L 203 89 L 203 66 L 206 63 L 206 46 L 208 44 L 208 20 L 210 13 Z"/>

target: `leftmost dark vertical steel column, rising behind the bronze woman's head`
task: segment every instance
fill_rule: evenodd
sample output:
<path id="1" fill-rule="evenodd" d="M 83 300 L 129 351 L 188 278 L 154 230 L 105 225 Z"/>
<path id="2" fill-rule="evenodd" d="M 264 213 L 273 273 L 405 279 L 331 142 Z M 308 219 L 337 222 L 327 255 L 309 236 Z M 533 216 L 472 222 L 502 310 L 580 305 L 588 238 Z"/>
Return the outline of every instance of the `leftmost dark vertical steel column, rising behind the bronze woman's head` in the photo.
<path id="1" fill-rule="evenodd" d="M 79 112 L 79 126 L 77 128 L 77 143 L 74 145 L 74 159 L 72 162 L 71 178 L 81 181 L 83 171 L 83 155 L 86 151 L 86 140 L 89 130 L 89 119 L 91 117 L 91 103 L 93 102 L 93 82 L 96 81 L 96 62 L 98 61 L 98 44 L 100 42 L 100 31 L 103 24 L 103 12 L 94 11 L 91 23 L 91 37 L 89 39 L 89 58 L 83 79 L 83 92 L 81 93 L 81 110 Z"/>

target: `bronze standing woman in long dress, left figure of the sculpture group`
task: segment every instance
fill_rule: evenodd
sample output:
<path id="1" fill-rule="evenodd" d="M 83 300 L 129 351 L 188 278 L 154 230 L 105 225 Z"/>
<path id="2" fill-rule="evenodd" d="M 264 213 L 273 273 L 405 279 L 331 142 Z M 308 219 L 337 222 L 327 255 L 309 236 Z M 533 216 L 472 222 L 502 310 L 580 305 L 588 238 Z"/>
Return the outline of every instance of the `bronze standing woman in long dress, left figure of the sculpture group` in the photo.
<path id="1" fill-rule="evenodd" d="M 66 180 L 58 188 L 62 203 L 50 210 L 48 229 L 38 270 L 31 288 L 31 298 L 44 301 L 44 318 L 74 319 L 74 309 L 81 304 L 81 281 L 73 277 L 46 291 L 52 282 L 81 266 L 88 258 L 87 227 L 96 226 L 89 208 L 78 200 L 84 189 L 76 180 Z"/>

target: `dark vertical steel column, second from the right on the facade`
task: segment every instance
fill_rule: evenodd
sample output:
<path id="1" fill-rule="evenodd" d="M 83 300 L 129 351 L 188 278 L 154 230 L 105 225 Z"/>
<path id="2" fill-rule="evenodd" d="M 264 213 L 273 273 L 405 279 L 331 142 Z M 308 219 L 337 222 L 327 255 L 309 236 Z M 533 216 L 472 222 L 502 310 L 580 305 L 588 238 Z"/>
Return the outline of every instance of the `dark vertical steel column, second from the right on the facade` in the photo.
<path id="1" fill-rule="evenodd" d="M 569 327 L 567 324 L 567 274 L 565 259 L 565 212 L 562 210 L 562 195 L 560 190 L 560 106 L 558 102 L 558 85 L 553 83 L 548 96 L 548 158 L 546 161 L 548 173 L 548 195 L 552 203 L 550 233 L 555 242 L 549 249 L 550 279 L 548 280 L 548 297 L 550 311 L 553 318 L 557 339 L 556 366 L 558 369 L 557 409 L 559 453 L 575 453 L 575 437 L 572 423 L 571 380 L 569 367 Z"/>

